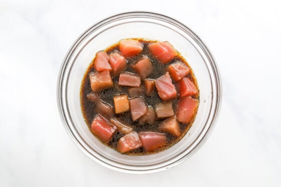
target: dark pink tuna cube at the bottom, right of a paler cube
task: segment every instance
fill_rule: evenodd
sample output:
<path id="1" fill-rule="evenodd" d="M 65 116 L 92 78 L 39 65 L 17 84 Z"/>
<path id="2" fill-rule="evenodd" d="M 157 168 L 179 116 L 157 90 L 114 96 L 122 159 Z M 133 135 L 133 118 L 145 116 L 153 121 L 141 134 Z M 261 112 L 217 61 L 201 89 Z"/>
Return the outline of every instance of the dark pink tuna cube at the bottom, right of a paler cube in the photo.
<path id="1" fill-rule="evenodd" d="M 153 151 L 166 144 L 167 137 L 165 134 L 157 132 L 140 132 L 139 138 L 143 142 L 144 149 L 146 151 Z"/>

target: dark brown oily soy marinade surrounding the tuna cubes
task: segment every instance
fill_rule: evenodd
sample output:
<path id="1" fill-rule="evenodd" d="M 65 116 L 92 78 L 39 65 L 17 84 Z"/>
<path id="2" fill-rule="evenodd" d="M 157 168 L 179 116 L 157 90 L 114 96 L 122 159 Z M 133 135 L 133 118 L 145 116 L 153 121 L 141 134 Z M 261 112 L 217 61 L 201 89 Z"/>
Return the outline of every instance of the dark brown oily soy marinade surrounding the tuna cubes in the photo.
<path id="1" fill-rule="evenodd" d="M 138 40 L 139 42 L 141 42 L 143 44 L 143 51 L 136 56 L 128 57 L 128 58 L 126 57 L 127 67 L 122 72 L 125 71 L 125 72 L 132 72 L 132 73 L 136 74 L 133 71 L 133 69 L 131 68 L 131 65 L 134 64 L 135 62 L 137 62 L 139 59 L 141 59 L 144 55 L 149 57 L 149 59 L 153 63 L 153 67 L 154 67 L 153 72 L 147 77 L 147 79 L 154 79 L 155 80 L 155 79 L 161 77 L 162 75 L 164 75 L 167 72 L 167 67 L 169 65 L 173 64 L 173 63 L 177 63 L 177 62 L 184 63 L 186 66 L 188 66 L 190 68 L 190 72 L 186 77 L 188 77 L 194 83 L 194 85 L 196 86 L 196 88 L 198 90 L 198 93 L 196 95 L 192 95 L 192 98 L 195 98 L 199 101 L 199 89 L 198 89 L 198 85 L 197 85 L 197 82 L 196 82 L 196 78 L 193 75 L 191 67 L 188 65 L 186 60 L 179 53 L 177 53 L 177 56 L 173 60 L 171 60 L 169 63 L 163 64 L 163 63 L 159 62 L 159 60 L 157 58 L 155 58 L 150 53 L 150 51 L 148 49 L 148 45 L 150 43 L 154 43 L 154 42 L 157 42 L 157 41 L 145 41 L 143 39 L 135 39 L 135 40 Z M 120 52 L 119 43 L 110 46 L 109 48 L 107 48 L 104 51 L 108 55 L 113 53 L 113 52 L 116 52 L 116 51 Z M 93 62 L 94 62 L 94 59 L 85 72 L 85 75 L 84 75 L 82 83 L 81 83 L 81 90 L 80 90 L 81 109 L 82 109 L 82 113 L 83 113 L 85 122 L 87 123 L 90 131 L 91 131 L 91 124 L 92 124 L 93 118 L 97 114 L 97 111 L 95 109 L 95 102 L 92 102 L 87 98 L 87 94 L 92 92 L 89 74 L 90 74 L 90 72 L 95 72 Z M 103 100 L 106 103 L 109 103 L 111 106 L 114 106 L 114 103 L 113 103 L 113 97 L 114 96 L 122 95 L 122 94 L 128 95 L 128 88 L 129 87 L 119 86 L 118 85 L 118 79 L 119 79 L 119 76 L 116 76 L 116 77 L 112 78 L 113 83 L 114 83 L 114 87 L 97 92 L 97 95 L 100 97 L 100 99 Z M 141 84 L 143 86 L 144 80 L 142 79 L 141 81 L 142 81 Z M 175 85 L 175 81 L 173 79 L 172 79 L 172 82 Z M 154 108 L 154 110 L 155 110 L 155 106 L 157 104 L 163 102 L 162 99 L 159 97 L 156 88 L 155 88 L 152 96 L 147 96 L 145 93 L 142 94 L 141 96 L 145 99 L 147 105 L 152 106 Z M 172 100 L 172 106 L 173 106 L 173 110 L 174 110 L 175 113 L 176 113 L 176 110 L 177 110 L 177 103 L 179 102 L 179 99 L 180 99 L 179 90 L 177 88 L 177 98 Z M 132 121 L 130 111 L 124 112 L 124 113 L 121 113 L 121 114 L 114 114 L 114 117 L 116 117 L 117 119 L 119 119 L 121 121 L 124 121 L 127 124 L 130 124 L 133 127 L 133 131 L 136 131 L 137 133 L 150 131 L 150 132 L 164 133 L 167 136 L 167 143 L 165 145 L 163 145 L 162 147 L 157 148 L 153 151 L 147 152 L 143 149 L 143 147 L 140 147 L 140 148 L 125 152 L 124 154 L 129 154 L 129 155 L 152 154 L 152 153 L 156 153 L 156 152 L 159 152 L 159 151 L 162 151 L 162 150 L 165 150 L 165 149 L 171 147 L 172 145 L 177 143 L 187 133 L 187 131 L 189 130 L 189 128 L 191 127 L 191 125 L 194 121 L 196 113 L 197 113 L 197 108 L 195 110 L 195 113 L 194 113 L 193 117 L 191 118 L 191 120 L 188 123 L 185 124 L 185 123 L 179 122 L 180 131 L 181 131 L 180 136 L 175 136 L 171 133 L 167 133 L 167 132 L 164 132 L 164 131 L 159 129 L 159 126 L 160 126 L 161 122 L 164 121 L 166 118 L 164 118 L 164 119 L 156 118 L 155 124 L 148 124 L 148 123 L 138 124 L 138 120 Z M 95 135 L 95 134 L 93 134 L 93 135 Z M 117 129 L 114 132 L 114 134 L 112 135 L 111 140 L 108 143 L 104 142 L 104 144 L 108 145 L 109 147 L 111 147 L 113 149 L 116 149 L 117 142 L 118 142 L 119 138 L 121 138 L 124 135 L 125 134 L 120 133 L 119 130 Z M 99 137 L 97 137 L 97 138 L 100 139 Z M 101 142 L 103 142 L 103 141 L 101 140 Z"/>

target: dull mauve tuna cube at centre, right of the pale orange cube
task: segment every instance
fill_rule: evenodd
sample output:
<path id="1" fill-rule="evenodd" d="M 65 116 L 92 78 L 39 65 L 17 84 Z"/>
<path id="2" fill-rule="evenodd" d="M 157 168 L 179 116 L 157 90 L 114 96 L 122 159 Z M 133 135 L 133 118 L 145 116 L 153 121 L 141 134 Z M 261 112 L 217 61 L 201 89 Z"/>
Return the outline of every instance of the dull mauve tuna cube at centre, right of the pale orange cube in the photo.
<path id="1" fill-rule="evenodd" d="M 132 120 L 135 121 L 148 112 L 148 105 L 143 97 L 135 97 L 129 100 Z"/>

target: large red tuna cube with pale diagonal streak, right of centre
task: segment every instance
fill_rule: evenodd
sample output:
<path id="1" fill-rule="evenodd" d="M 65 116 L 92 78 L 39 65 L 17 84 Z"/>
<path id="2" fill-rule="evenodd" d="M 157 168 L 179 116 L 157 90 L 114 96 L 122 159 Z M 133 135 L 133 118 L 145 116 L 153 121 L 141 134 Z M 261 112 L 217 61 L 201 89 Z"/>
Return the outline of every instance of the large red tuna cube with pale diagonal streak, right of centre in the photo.
<path id="1" fill-rule="evenodd" d="M 163 101 L 169 101 L 177 97 L 177 91 L 175 85 L 172 83 L 169 72 L 156 79 L 155 86 L 159 97 Z"/>

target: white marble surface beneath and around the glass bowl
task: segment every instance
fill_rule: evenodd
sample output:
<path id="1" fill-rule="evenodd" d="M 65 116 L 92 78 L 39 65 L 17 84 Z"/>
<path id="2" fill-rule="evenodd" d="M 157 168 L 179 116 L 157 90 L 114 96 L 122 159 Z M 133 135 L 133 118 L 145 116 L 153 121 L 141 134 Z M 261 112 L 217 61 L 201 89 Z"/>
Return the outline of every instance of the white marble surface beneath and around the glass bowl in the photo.
<path id="1" fill-rule="evenodd" d="M 0 186 L 281 186 L 278 1 L 0 1 Z M 235 2 L 235 3 L 234 3 Z M 223 101 L 203 147 L 169 170 L 135 175 L 88 158 L 57 109 L 74 40 L 113 14 L 166 14 L 197 33 L 219 66 Z"/>

